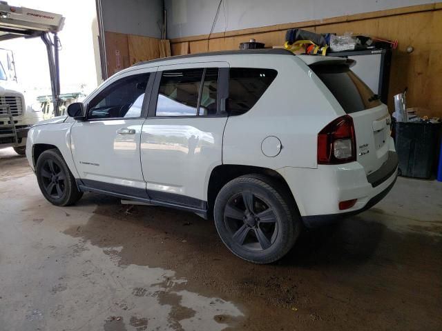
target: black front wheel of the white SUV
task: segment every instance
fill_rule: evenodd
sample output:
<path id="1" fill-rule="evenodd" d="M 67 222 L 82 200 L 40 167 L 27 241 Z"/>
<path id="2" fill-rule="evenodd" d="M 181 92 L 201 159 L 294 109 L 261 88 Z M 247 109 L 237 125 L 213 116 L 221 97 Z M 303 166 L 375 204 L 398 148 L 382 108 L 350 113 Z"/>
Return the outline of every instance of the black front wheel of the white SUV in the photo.
<path id="1" fill-rule="evenodd" d="M 41 193 L 53 205 L 72 205 L 83 195 L 58 150 L 41 153 L 35 170 Z"/>

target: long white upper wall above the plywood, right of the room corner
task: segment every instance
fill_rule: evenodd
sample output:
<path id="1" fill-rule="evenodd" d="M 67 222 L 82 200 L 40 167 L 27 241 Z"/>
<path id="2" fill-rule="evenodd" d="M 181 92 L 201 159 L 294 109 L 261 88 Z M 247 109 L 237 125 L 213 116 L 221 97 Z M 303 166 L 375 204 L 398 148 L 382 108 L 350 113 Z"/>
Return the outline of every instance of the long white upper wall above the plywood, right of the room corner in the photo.
<path id="1" fill-rule="evenodd" d="M 167 37 L 208 34 L 219 0 L 165 0 Z M 223 0 L 213 32 L 325 19 L 434 3 L 432 0 Z M 225 19 L 224 19 L 225 17 Z"/>

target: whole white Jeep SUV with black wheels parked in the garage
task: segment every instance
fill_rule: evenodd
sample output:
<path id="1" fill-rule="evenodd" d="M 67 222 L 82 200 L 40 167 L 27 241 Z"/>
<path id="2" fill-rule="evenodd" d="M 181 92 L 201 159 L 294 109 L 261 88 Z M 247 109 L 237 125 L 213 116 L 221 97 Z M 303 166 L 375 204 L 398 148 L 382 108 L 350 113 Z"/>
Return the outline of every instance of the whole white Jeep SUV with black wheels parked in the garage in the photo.
<path id="1" fill-rule="evenodd" d="M 213 216 L 229 250 L 270 263 L 302 224 L 370 208 L 396 180 L 387 107 L 349 64 L 286 50 L 139 63 L 34 126 L 26 154 L 55 205 L 92 191 Z"/>

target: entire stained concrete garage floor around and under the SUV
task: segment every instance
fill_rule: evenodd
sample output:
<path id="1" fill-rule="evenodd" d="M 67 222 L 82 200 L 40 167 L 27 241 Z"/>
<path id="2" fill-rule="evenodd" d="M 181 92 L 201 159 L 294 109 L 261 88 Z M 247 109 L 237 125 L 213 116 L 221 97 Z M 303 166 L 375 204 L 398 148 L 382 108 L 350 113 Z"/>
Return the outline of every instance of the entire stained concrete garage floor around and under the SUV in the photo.
<path id="1" fill-rule="evenodd" d="M 50 205 L 0 150 L 0 330 L 442 330 L 442 183 L 399 178 L 274 265 L 213 224 L 85 194 Z"/>

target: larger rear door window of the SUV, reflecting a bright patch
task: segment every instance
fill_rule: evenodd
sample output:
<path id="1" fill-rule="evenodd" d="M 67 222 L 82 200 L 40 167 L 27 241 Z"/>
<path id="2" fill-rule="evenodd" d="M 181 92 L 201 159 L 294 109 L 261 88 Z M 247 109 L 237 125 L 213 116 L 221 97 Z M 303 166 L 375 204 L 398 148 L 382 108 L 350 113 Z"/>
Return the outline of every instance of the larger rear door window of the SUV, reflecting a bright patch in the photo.
<path id="1" fill-rule="evenodd" d="M 164 71 L 156 116 L 196 116 L 204 69 Z"/>

